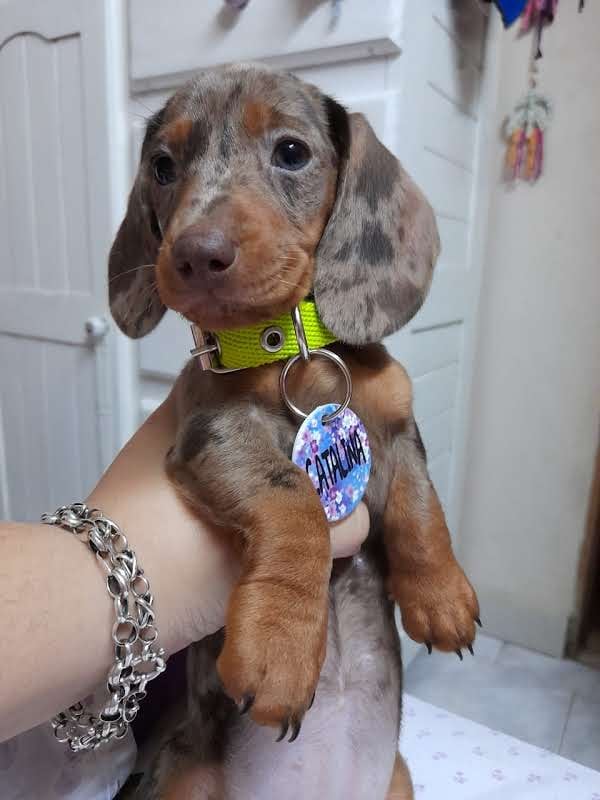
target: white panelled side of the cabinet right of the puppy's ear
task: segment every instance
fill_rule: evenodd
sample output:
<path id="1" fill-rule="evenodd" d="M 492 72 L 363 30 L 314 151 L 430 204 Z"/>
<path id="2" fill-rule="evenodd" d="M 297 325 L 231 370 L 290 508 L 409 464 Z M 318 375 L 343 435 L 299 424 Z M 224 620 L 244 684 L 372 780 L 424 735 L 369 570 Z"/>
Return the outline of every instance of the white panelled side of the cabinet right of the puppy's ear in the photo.
<path id="1" fill-rule="evenodd" d="M 389 347 L 413 380 L 429 472 L 455 546 L 489 194 L 497 25 L 470 0 L 407 3 L 397 149 L 429 198 L 442 243 L 430 294 Z M 496 12 L 494 12 L 495 14 Z M 497 22 L 497 20 L 496 20 Z"/>

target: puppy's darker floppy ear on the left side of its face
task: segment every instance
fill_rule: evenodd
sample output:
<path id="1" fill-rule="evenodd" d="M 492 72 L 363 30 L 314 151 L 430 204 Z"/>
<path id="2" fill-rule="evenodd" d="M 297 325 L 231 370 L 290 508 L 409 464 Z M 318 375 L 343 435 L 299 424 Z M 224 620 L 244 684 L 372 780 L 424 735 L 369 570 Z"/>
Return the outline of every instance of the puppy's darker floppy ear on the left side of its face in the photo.
<path id="1" fill-rule="evenodd" d="M 110 310 L 119 328 L 132 339 L 153 330 L 166 311 L 156 287 L 155 265 L 162 235 L 150 202 L 149 176 L 143 165 L 144 152 L 160 125 L 161 113 L 148 123 L 142 164 L 108 259 Z"/>

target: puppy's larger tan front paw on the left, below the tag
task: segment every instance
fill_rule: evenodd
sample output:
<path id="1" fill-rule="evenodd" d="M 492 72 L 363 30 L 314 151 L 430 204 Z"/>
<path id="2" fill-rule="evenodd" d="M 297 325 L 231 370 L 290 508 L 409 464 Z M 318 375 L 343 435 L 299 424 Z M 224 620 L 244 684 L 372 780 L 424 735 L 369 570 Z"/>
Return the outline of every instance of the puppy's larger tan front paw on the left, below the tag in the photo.
<path id="1" fill-rule="evenodd" d="M 298 597 L 265 583 L 234 590 L 217 668 L 241 713 L 279 728 L 281 741 L 300 732 L 325 658 L 327 594 Z"/>

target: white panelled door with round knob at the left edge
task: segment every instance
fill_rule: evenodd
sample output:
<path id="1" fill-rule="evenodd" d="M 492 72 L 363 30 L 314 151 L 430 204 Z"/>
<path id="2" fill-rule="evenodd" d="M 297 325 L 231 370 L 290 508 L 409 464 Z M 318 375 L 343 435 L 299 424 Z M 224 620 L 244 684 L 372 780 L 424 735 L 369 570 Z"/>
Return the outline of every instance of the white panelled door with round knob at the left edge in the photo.
<path id="1" fill-rule="evenodd" d="M 111 227 L 105 90 L 103 2 L 0 4 L 5 518 L 83 499 L 112 450 L 101 335 Z"/>

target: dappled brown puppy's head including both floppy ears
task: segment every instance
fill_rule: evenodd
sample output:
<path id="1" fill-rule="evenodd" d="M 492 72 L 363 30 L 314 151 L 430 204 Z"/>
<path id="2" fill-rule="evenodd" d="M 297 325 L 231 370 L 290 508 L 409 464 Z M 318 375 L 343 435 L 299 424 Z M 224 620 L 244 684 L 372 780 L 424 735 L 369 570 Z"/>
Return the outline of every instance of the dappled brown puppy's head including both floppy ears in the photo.
<path id="1" fill-rule="evenodd" d="M 366 119 L 264 67 L 202 73 L 148 122 L 109 260 L 110 305 L 137 338 L 172 308 L 206 329 L 314 292 L 342 341 L 376 341 L 427 293 L 433 212 Z"/>

